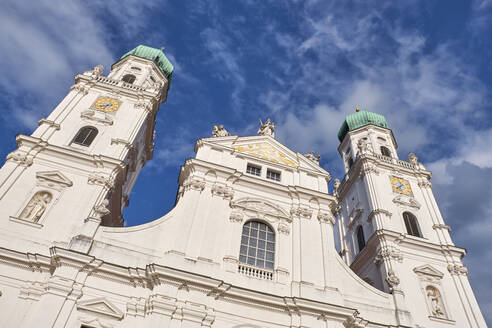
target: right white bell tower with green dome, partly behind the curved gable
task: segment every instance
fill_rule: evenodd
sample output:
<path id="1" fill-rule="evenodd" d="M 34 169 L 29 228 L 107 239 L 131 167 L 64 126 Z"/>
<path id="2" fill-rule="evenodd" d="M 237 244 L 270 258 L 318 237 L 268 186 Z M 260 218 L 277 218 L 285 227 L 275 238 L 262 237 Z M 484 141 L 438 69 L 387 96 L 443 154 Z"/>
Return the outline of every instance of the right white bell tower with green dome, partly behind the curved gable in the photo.
<path id="1" fill-rule="evenodd" d="M 347 116 L 338 138 L 345 177 L 336 182 L 340 255 L 362 279 L 393 294 L 402 325 L 485 327 L 431 172 L 410 153 L 398 158 L 384 116 Z M 409 315 L 412 309 L 412 316 Z"/>

